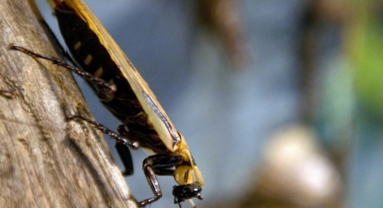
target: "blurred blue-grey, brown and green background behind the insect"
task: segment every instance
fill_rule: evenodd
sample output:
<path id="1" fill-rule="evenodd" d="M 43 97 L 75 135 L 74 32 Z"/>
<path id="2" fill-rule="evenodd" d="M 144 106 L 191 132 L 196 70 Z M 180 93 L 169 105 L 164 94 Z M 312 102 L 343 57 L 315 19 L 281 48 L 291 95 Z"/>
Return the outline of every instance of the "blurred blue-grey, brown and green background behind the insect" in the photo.
<path id="1" fill-rule="evenodd" d="M 383 1 L 87 3 L 185 136 L 206 180 L 198 207 L 383 207 Z M 126 181 L 142 200 L 146 155 L 132 153 Z M 174 179 L 159 180 L 150 207 L 177 207 Z"/>

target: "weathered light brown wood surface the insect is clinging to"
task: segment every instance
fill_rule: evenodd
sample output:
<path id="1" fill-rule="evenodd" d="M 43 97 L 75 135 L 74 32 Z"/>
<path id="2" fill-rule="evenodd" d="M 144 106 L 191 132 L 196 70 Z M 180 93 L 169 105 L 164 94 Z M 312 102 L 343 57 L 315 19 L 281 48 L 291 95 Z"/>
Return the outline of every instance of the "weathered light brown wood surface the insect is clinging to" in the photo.
<path id="1" fill-rule="evenodd" d="M 72 75 L 9 44 L 58 57 L 34 3 L 0 3 L 0 207 L 134 208 Z"/>

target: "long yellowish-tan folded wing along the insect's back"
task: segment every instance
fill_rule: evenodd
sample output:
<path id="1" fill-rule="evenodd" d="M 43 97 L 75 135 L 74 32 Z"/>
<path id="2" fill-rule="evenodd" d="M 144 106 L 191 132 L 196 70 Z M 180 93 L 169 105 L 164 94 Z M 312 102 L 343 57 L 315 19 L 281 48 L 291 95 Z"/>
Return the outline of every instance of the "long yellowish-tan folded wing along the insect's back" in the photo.
<path id="1" fill-rule="evenodd" d="M 98 34 L 101 44 L 108 50 L 111 58 L 121 70 L 123 76 L 128 80 L 132 90 L 137 96 L 138 101 L 142 105 L 148 116 L 149 122 L 159 134 L 161 141 L 170 151 L 175 151 L 180 142 L 180 137 L 170 121 L 162 106 L 158 102 L 156 96 L 149 89 L 147 83 L 138 73 L 136 68 L 126 57 L 121 48 L 114 41 L 109 32 L 104 28 L 100 21 L 96 18 L 88 6 L 81 0 L 48 0 L 51 5 L 65 2 L 71 7 L 79 17 L 87 22 L 89 28 Z"/>

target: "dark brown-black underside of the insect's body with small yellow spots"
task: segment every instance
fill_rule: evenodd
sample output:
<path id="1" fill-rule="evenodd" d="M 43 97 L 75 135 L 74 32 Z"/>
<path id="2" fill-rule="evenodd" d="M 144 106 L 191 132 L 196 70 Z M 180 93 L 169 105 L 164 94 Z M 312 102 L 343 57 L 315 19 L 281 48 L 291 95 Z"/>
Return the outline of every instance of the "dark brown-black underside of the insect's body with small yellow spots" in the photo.
<path id="1" fill-rule="evenodd" d="M 130 137 L 134 137 L 142 146 L 150 147 L 155 152 L 167 152 L 168 149 L 148 121 L 147 114 L 129 82 L 95 32 L 65 2 L 57 3 L 54 11 L 65 43 L 75 61 L 83 70 L 116 86 L 117 90 L 112 100 L 103 104 L 128 126 Z"/>

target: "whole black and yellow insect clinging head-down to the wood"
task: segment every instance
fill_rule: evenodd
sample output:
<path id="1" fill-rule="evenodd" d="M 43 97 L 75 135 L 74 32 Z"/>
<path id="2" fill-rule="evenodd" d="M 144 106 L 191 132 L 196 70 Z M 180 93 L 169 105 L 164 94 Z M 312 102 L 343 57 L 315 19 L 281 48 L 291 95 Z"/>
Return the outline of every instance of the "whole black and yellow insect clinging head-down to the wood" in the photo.
<path id="1" fill-rule="evenodd" d="M 154 197 L 139 202 L 140 206 L 153 203 L 162 196 L 157 175 L 174 176 L 178 184 L 173 187 L 174 202 L 179 207 L 183 201 L 194 197 L 202 200 L 201 187 L 205 182 L 184 137 L 176 131 L 153 92 L 111 35 L 81 0 L 48 1 L 71 57 L 81 69 L 19 45 L 11 44 L 11 48 L 51 60 L 93 85 L 101 102 L 122 122 L 117 128 L 118 134 L 79 115 L 69 119 L 89 122 L 114 138 L 126 169 L 125 175 L 133 172 L 128 147 L 141 147 L 150 152 L 143 162 L 143 170 Z"/>

